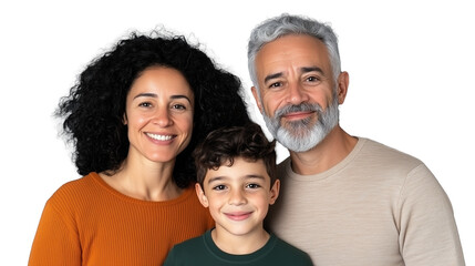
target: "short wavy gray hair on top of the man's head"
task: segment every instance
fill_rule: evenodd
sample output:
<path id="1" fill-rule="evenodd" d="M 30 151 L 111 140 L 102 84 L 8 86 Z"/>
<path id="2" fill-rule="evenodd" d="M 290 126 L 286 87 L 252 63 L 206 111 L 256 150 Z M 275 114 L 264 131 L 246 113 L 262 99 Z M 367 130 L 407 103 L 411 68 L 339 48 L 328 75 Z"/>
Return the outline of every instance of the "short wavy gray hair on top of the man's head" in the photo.
<path id="1" fill-rule="evenodd" d="M 338 51 L 338 38 L 330 25 L 313 19 L 283 13 L 279 17 L 264 21 L 250 33 L 247 50 L 248 68 L 250 79 L 257 89 L 259 89 L 256 73 L 257 53 L 266 43 L 289 34 L 307 34 L 322 41 L 329 53 L 333 79 L 338 79 L 338 75 L 341 72 L 340 53 Z M 259 92 L 259 90 L 257 91 Z"/>

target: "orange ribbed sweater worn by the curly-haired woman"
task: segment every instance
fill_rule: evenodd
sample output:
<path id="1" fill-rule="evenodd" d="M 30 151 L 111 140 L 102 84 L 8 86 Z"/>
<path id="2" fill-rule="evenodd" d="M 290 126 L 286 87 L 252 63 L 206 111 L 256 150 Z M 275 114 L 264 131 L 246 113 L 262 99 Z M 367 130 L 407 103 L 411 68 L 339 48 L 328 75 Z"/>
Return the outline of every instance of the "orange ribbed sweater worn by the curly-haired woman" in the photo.
<path id="1" fill-rule="evenodd" d="M 47 202 L 29 265 L 162 265 L 174 244 L 213 226 L 193 187 L 172 201 L 145 202 L 91 173 Z"/>

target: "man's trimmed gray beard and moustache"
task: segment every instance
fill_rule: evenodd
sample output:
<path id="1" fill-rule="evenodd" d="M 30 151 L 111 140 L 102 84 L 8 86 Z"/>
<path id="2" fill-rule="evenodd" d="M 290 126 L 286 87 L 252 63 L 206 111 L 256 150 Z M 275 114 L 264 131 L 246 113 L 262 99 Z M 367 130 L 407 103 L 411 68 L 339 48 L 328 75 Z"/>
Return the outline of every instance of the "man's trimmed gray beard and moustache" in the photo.
<path id="1" fill-rule="evenodd" d="M 292 152 L 307 152 L 317 146 L 339 122 L 338 98 L 323 111 L 320 104 L 302 103 L 287 105 L 276 111 L 273 117 L 262 112 L 264 121 L 272 136 L 285 147 Z M 280 124 L 281 116 L 297 111 L 314 111 L 317 122 L 311 119 L 287 122 Z"/>

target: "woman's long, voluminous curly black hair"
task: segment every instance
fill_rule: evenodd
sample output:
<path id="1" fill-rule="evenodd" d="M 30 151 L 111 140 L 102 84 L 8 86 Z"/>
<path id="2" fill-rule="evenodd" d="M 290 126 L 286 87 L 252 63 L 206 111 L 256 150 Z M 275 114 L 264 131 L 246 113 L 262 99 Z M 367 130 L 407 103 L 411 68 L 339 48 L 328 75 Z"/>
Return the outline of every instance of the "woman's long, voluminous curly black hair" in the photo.
<path id="1" fill-rule="evenodd" d="M 158 31 L 132 32 L 109 52 L 94 59 L 80 74 L 55 115 L 64 117 L 63 133 L 73 143 L 78 173 L 115 173 L 128 153 L 127 126 L 123 123 L 131 85 L 149 66 L 179 71 L 195 95 L 190 143 L 178 154 L 173 180 L 179 187 L 196 181 L 192 152 L 210 131 L 250 121 L 240 95 L 240 80 L 218 68 L 183 35 Z"/>

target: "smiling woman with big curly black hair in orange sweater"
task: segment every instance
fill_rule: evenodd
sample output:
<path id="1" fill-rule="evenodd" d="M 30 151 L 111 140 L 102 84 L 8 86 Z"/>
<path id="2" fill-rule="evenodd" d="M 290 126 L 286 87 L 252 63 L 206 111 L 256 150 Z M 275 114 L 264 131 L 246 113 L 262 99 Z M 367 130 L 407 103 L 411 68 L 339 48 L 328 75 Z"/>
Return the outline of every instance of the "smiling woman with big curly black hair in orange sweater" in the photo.
<path id="1" fill-rule="evenodd" d="M 190 152 L 249 121 L 239 90 L 183 37 L 133 33 L 94 60 L 56 111 L 84 176 L 47 202 L 29 265 L 162 265 L 213 227 Z"/>

